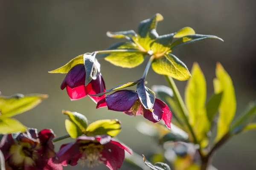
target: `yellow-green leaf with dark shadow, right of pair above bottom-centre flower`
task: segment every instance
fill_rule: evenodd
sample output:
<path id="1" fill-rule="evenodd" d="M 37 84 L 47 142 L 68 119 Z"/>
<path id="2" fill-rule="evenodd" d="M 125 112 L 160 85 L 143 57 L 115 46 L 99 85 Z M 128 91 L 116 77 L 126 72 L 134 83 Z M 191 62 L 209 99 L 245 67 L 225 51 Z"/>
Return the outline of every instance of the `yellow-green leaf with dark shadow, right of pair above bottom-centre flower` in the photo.
<path id="1" fill-rule="evenodd" d="M 121 122 L 117 119 L 105 119 L 92 122 L 86 129 L 87 136 L 105 135 L 116 136 L 121 131 Z"/>

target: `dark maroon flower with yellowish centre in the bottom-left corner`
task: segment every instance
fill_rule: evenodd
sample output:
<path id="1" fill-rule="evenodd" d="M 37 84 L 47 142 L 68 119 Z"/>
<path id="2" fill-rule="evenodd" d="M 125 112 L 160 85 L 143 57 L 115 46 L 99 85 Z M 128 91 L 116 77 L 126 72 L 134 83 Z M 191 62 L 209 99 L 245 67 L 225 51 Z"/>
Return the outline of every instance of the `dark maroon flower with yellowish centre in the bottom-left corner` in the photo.
<path id="1" fill-rule="evenodd" d="M 50 129 L 29 128 L 13 139 L 12 134 L 3 136 L 0 150 L 3 152 L 7 170 L 63 170 L 55 156 Z"/>

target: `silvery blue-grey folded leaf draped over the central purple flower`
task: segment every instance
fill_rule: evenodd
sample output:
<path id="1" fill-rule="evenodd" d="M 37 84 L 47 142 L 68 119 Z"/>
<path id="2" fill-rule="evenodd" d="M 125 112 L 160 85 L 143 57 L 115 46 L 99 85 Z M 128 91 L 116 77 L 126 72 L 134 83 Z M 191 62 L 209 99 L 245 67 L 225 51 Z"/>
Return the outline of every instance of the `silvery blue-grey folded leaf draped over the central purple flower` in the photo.
<path id="1" fill-rule="evenodd" d="M 149 88 L 147 88 L 144 85 L 144 80 L 139 82 L 137 84 L 137 93 L 140 99 L 140 102 L 142 103 L 143 107 L 145 109 L 148 109 L 150 111 L 153 111 L 154 101 L 155 101 L 155 94 L 154 91 L 151 91 Z"/>

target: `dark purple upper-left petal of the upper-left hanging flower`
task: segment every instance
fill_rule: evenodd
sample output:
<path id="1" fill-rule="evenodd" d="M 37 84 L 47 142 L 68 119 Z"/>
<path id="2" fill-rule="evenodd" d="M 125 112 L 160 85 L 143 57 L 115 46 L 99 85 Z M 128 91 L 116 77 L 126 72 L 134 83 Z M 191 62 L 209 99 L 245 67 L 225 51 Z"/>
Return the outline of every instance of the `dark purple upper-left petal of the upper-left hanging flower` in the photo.
<path id="1" fill-rule="evenodd" d="M 85 84 L 85 68 L 83 64 L 75 65 L 67 73 L 65 79 L 61 83 L 61 90 L 69 86 L 70 88 L 76 88 Z"/>

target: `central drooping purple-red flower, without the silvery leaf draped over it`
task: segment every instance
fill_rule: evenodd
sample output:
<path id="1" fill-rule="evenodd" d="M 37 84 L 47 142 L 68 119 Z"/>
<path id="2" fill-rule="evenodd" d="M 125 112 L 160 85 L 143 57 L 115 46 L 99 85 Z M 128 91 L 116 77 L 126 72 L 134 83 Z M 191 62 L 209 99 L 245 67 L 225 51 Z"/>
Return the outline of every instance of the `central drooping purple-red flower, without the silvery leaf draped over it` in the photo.
<path id="1" fill-rule="evenodd" d="M 111 111 L 121 111 L 130 116 L 143 115 L 151 122 L 159 122 L 161 119 L 168 128 L 171 128 L 172 113 L 168 106 L 160 99 L 155 99 L 153 111 L 145 109 L 140 103 L 136 91 L 120 90 L 106 96 L 97 103 L 96 108 L 108 106 Z"/>

